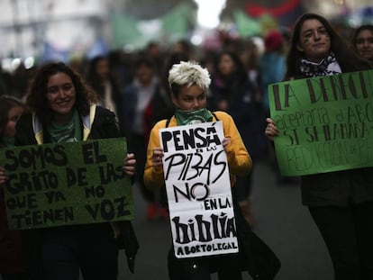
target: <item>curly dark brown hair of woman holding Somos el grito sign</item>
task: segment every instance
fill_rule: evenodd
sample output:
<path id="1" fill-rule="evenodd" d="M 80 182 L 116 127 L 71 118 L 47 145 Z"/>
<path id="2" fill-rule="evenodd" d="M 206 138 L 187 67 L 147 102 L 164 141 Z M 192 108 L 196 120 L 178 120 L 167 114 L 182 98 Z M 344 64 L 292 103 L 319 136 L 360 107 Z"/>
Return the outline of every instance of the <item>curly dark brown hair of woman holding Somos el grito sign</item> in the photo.
<path id="1" fill-rule="evenodd" d="M 43 124 L 52 120 L 52 111 L 48 106 L 47 87 L 51 76 L 64 73 L 71 78 L 76 92 L 75 108 L 82 115 L 89 113 L 90 104 L 97 102 L 96 92 L 86 84 L 86 81 L 72 68 L 63 62 L 50 62 L 36 71 L 32 79 L 30 91 L 26 98 L 26 104 L 33 113 L 40 118 Z"/>

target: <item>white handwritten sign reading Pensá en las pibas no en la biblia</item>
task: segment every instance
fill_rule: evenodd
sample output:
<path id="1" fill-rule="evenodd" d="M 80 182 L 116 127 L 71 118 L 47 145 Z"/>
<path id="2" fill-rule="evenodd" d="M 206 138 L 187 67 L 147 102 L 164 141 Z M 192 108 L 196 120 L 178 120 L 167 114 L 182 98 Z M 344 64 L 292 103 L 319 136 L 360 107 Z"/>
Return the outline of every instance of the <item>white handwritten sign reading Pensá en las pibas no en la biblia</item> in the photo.
<path id="1" fill-rule="evenodd" d="M 222 122 L 159 130 L 175 256 L 238 252 Z"/>

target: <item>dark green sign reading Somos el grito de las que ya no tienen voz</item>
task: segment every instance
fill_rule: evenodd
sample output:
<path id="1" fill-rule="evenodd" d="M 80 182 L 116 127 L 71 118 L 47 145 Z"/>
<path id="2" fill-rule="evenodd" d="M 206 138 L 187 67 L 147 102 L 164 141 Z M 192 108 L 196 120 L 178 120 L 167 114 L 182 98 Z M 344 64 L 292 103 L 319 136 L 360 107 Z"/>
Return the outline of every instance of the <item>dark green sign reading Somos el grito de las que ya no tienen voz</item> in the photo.
<path id="1" fill-rule="evenodd" d="M 132 220 L 123 138 L 0 149 L 9 228 Z"/>

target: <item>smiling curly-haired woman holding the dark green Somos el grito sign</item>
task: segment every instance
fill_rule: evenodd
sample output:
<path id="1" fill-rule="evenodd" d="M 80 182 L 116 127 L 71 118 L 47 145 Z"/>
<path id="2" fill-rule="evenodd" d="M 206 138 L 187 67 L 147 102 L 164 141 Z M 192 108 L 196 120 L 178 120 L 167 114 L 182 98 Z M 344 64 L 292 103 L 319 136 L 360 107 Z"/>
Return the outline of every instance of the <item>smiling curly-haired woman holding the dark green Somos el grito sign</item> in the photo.
<path id="1" fill-rule="evenodd" d="M 15 145 L 120 137 L 114 113 L 96 102 L 96 93 L 67 65 L 56 62 L 42 66 L 27 95 L 31 112 L 17 122 Z M 134 155 L 123 158 L 124 174 L 133 176 Z M 31 246 L 28 257 L 32 265 L 27 269 L 39 275 L 34 279 L 42 280 L 77 280 L 79 269 L 85 280 L 116 280 L 123 229 L 132 231 L 131 222 L 23 230 L 23 240 L 28 242 L 23 246 Z M 134 234 L 124 240 L 124 245 L 133 260 L 138 248 Z"/>

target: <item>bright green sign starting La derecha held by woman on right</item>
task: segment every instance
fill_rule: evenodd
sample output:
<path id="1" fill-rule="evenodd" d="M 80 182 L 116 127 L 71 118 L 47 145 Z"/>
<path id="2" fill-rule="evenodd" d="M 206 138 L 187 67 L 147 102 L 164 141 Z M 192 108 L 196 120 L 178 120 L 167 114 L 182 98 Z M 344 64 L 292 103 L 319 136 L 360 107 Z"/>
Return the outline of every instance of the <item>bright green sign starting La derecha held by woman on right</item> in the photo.
<path id="1" fill-rule="evenodd" d="M 373 166 L 373 70 L 268 86 L 281 174 Z"/>

